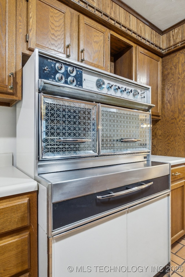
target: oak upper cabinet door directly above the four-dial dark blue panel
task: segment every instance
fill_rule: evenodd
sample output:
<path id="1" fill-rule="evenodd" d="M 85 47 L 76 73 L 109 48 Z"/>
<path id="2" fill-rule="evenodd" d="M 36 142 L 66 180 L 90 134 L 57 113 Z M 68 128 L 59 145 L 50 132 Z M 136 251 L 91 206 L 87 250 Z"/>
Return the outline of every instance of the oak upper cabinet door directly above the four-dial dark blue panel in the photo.
<path id="1" fill-rule="evenodd" d="M 56 0 L 34 0 L 29 15 L 28 50 L 38 47 L 77 60 L 77 12 Z"/>

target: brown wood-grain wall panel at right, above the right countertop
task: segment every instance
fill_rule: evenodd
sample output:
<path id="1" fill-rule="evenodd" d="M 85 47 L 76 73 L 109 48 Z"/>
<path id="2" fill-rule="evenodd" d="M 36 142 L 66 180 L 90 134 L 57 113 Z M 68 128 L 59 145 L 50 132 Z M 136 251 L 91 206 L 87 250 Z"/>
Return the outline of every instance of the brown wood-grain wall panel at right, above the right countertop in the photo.
<path id="1" fill-rule="evenodd" d="M 152 154 L 185 157 L 185 50 L 162 59 L 162 112 L 152 121 Z"/>

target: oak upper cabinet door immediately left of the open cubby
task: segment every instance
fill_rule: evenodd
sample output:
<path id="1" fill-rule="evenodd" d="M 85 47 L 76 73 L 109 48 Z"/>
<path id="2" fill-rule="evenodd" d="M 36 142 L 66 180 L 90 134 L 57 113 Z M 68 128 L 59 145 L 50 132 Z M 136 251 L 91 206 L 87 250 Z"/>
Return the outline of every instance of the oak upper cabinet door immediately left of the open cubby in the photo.
<path id="1" fill-rule="evenodd" d="M 83 15 L 79 18 L 79 61 L 109 71 L 109 30 Z"/>

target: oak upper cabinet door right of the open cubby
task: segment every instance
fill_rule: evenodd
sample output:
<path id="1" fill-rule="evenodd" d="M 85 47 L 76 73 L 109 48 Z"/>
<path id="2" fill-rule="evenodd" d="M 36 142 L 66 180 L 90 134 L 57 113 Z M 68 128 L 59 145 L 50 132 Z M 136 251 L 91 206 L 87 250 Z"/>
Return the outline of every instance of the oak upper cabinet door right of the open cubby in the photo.
<path id="1" fill-rule="evenodd" d="M 137 81 L 151 86 L 152 119 L 161 115 L 161 58 L 137 46 Z"/>

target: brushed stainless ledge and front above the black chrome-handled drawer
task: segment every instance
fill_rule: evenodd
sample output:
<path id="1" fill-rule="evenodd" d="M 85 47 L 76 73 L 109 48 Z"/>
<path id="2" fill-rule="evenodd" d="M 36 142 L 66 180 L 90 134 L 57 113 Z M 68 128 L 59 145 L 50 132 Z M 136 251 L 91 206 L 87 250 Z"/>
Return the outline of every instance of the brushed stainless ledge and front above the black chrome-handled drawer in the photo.
<path id="1" fill-rule="evenodd" d="M 40 174 L 52 183 L 52 202 L 59 202 L 94 192 L 168 175 L 169 164 L 137 162 L 91 169 Z"/>

